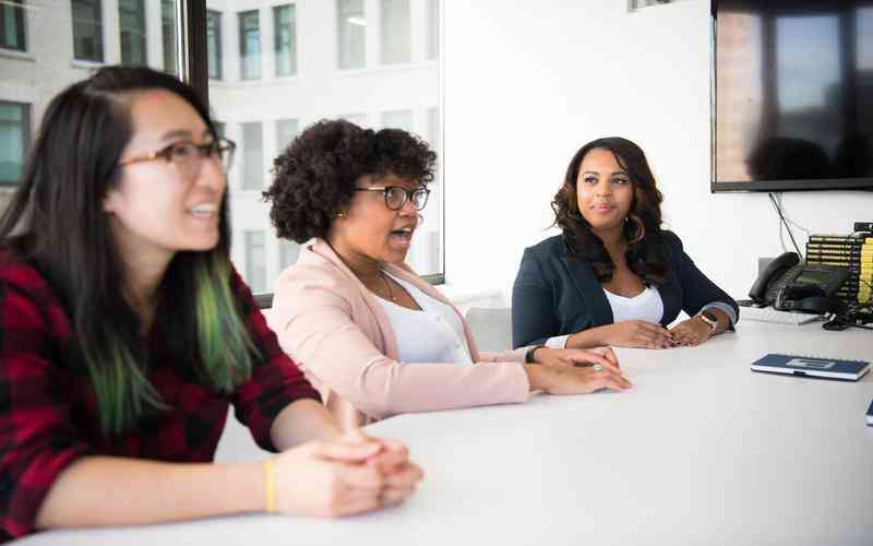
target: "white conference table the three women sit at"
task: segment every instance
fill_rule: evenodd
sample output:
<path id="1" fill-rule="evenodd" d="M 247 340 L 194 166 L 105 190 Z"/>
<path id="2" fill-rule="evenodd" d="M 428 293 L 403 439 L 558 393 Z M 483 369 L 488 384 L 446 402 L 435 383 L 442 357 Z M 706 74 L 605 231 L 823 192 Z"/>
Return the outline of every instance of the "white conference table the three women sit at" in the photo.
<path id="1" fill-rule="evenodd" d="M 369 427 L 408 442 L 426 471 L 399 508 L 56 531 L 16 544 L 873 544 L 864 416 L 873 377 L 749 369 L 769 352 L 873 360 L 873 332 L 741 322 L 699 347 L 617 352 L 635 383 L 624 393 L 535 396 Z"/>

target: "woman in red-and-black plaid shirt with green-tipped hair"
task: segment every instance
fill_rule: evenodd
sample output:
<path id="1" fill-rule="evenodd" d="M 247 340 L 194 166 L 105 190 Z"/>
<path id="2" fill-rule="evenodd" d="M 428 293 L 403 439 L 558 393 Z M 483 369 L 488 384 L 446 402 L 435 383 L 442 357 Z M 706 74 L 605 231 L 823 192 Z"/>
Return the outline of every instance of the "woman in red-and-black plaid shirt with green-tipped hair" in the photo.
<path id="1" fill-rule="evenodd" d="M 0 219 L 0 542 L 412 492 L 405 448 L 342 431 L 234 271 L 232 152 L 163 72 L 104 68 L 48 106 Z M 277 455 L 212 463 L 231 403 Z"/>

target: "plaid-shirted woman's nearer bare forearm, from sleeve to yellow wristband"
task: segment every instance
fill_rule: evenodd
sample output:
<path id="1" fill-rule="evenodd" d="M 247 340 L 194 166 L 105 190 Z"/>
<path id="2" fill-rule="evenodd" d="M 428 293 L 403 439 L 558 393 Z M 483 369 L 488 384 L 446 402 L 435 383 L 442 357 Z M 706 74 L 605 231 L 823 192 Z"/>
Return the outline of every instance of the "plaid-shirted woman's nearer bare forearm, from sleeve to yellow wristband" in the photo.
<path id="1" fill-rule="evenodd" d="M 38 529 L 135 525 L 256 512 L 265 507 L 258 463 L 165 463 L 85 456 L 55 480 Z"/>

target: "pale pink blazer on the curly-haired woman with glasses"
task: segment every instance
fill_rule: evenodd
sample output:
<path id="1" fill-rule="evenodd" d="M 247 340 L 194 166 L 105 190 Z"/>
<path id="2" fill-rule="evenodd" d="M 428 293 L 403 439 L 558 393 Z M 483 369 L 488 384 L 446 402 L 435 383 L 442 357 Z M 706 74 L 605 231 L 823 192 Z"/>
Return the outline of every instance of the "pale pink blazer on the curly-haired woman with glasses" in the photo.
<path id="1" fill-rule="evenodd" d="M 387 264 L 385 270 L 451 305 L 406 264 Z M 270 325 L 340 424 L 527 400 L 529 383 L 522 366 L 527 347 L 479 353 L 461 317 L 475 366 L 404 365 L 397 361 L 397 340 L 376 298 L 322 239 L 304 246 L 276 283 Z"/>

